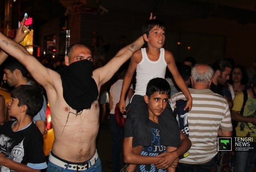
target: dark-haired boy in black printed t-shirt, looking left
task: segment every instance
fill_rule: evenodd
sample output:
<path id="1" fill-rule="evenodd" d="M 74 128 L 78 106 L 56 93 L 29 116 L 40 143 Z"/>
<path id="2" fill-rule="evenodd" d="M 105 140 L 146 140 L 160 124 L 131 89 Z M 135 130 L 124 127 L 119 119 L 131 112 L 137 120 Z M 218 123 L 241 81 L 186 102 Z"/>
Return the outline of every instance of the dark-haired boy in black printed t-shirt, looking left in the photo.
<path id="1" fill-rule="evenodd" d="M 47 168 L 43 136 L 32 122 L 43 106 L 43 96 L 33 85 L 20 85 L 11 92 L 8 113 L 17 121 L 0 128 L 0 172 L 40 171 Z"/>

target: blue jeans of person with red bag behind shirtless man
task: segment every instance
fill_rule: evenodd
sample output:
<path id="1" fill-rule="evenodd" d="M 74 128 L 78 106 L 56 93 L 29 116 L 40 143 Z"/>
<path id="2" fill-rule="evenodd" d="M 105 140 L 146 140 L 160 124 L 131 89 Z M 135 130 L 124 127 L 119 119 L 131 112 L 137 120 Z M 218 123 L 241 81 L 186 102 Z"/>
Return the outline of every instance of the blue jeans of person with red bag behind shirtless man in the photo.
<path id="1" fill-rule="evenodd" d="M 112 135 L 112 169 L 113 172 L 119 172 L 122 168 L 120 163 L 120 153 L 122 151 L 124 128 L 117 125 L 113 114 L 110 114 L 109 123 Z"/>

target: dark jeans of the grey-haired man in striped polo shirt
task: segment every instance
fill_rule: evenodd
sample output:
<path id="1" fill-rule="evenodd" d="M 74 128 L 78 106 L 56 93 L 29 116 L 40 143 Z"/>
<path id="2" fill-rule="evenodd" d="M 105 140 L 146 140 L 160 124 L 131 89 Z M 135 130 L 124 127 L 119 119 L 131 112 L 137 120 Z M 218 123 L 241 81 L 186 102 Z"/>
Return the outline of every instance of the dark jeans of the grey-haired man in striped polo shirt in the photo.
<path id="1" fill-rule="evenodd" d="M 176 172 L 217 172 L 215 157 L 212 160 L 202 164 L 178 163 Z"/>

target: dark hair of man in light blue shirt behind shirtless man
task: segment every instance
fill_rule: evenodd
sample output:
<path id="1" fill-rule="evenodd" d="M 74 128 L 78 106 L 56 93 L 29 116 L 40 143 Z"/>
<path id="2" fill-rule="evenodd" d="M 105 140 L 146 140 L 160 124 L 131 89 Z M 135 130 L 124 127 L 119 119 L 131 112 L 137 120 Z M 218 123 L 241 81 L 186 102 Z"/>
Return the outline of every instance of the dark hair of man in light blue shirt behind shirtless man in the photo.
<path id="1" fill-rule="evenodd" d="M 4 68 L 7 70 L 10 70 L 11 73 L 13 73 L 15 69 L 18 69 L 21 71 L 21 74 L 23 77 L 27 77 L 27 74 L 28 74 L 27 69 L 12 56 L 9 56 L 7 58 L 7 60 L 4 63 Z"/>

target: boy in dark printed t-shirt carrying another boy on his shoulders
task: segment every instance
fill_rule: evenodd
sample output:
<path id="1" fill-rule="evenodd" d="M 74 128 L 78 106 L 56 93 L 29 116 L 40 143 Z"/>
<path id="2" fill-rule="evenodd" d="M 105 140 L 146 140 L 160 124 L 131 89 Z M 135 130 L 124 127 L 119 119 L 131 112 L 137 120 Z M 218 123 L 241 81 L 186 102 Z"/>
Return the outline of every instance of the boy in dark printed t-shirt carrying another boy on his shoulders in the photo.
<path id="1" fill-rule="evenodd" d="M 180 138 L 173 137 L 172 143 L 166 145 L 162 142 L 165 132 L 161 131 L 158 117 L 165 110 L 167 103 L 169 103 L 170 85 L 165 79 L 154 78 L 151 79 L 146 87 L 146 95 L 144 100 L 148 105 L 148 112 L 145 112 L 146 120 L 143 118 L 136 119 L 137 122 L 132 122 L 128 117 L 125 125 L 124 134 L 124 162 L 129 164 L 136 164 L 136 172 L 144 171 L 175 171 L 175 162 L 177 163 L 178 157 L 183 155 L 191 146 L 190 140 L 180 131 Z M 138 109 L 139 111 L 139 109 Z M 170 114 L 170 122 L 173 125 L 178 125 L 177 120 Z M 139 128 L 145 128 L 142 131 Z M 149 135 L 151 145 L 137 145 L 139 139 L 134 137 L 135 131 L 141 131 L 145 135 Z M 162 128 L 164 129 L 164 128 Z M 175 136 L 172 132 L 168 131 L 169 135 Z M 177 131 L 178 132 L 178 131 Z M 141 143 L 141 142 L 140 142 Z M 129 165 L 123 171 L 134 171 L 134 165 Z"/>

